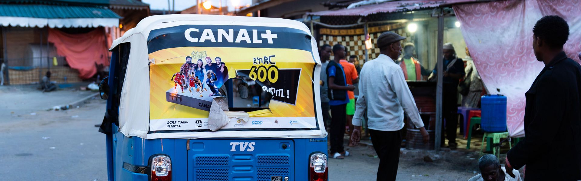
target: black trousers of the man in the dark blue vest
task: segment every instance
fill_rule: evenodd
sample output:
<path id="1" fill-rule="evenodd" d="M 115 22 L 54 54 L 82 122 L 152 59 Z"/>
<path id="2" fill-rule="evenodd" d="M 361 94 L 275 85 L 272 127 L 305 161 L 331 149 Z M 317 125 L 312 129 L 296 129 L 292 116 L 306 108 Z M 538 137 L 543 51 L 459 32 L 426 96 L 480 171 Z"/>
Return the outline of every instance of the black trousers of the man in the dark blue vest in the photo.
<path id="1" fill-rule="evenodd" d="M 345 117 L 347 104 L 331 106 L 331 131 L 329 141 L 331 141 L 331 157 L 337 152 L 345 151 L 343 148 L 343 135 L 345 135 Z"/>

